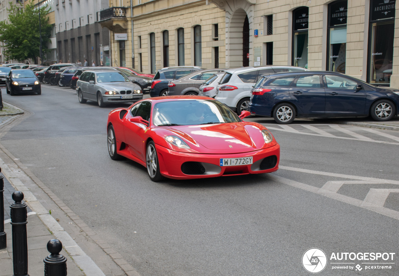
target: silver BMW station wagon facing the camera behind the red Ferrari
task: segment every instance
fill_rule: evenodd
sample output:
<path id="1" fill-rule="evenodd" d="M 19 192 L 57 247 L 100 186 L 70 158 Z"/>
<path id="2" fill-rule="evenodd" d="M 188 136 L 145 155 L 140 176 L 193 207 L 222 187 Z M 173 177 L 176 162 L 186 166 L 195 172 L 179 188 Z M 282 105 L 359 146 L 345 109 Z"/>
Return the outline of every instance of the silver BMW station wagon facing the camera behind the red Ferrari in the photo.
<path id="1" fill-rule="evenodd" d="M 143 98 L 140 86 L 115 70 L 87 70 L 76 83 L 79 103 L 97 101 L 100 107 L 110 103 L 134 103 Z"/>

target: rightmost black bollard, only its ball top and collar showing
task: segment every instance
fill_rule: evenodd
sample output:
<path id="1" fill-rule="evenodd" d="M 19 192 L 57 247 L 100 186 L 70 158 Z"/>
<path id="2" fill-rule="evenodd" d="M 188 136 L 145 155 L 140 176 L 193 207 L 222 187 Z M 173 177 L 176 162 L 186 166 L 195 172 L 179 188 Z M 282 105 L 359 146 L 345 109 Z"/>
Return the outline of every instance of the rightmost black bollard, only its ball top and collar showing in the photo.
<path id="1" fill-rule="evenodd" d="M 47 242 L 47 250 L 51 254 L 44 258 L 44 276 L 67 276 L 67 258 L 59 254 L 62 243 L 53 239 Z"/>

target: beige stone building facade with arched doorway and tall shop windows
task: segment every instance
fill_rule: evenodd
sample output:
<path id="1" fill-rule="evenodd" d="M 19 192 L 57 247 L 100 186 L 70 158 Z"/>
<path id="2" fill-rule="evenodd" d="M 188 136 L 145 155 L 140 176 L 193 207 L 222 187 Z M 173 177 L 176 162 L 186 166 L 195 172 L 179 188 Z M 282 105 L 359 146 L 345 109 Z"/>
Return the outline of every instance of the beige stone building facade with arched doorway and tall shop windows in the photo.
<path id="1" fill-rule="evenodd" d="M 111 31 L 112 65 L 147 73 L 296 65 L 399 88 L 395 2 L 110 0 L 100 23 Z"/>

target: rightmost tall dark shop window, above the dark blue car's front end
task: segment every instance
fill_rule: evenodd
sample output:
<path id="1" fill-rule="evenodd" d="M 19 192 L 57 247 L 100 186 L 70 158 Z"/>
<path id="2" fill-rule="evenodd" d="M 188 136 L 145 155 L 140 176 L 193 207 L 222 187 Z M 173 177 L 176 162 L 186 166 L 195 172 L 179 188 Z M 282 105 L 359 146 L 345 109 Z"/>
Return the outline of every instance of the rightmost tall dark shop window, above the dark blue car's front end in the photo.
<path id="1" fill-rule="evenodd" d="M 395 0 L 371 0 L 369 18 L 367 82 L 389 84 L 393 61 Z"/>

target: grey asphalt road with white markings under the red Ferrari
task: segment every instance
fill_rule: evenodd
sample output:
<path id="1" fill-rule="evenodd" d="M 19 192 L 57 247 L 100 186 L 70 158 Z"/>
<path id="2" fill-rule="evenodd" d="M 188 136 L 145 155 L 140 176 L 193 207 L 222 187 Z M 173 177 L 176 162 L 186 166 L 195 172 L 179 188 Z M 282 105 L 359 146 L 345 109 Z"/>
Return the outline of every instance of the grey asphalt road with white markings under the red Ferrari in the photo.
<path id="1" fill-rule="evenodd" d="M 142 276 L 310 275 L 302 255 L 315 247 L 328 259 L 320 275 L 399 275 L 398 132 L 248 118 L 279 142 L 279 171 L 154 183 L 144 167 L 109 158 L 116 106 L 80 104 L 75 91 L 48 85 L 3 99 L 31 116 L 0 142 Z M 396 254 L 330 260 L 341 252 Z M 365 262 L 395 264 L 370 271 Z"/>

